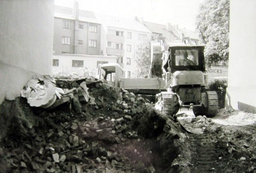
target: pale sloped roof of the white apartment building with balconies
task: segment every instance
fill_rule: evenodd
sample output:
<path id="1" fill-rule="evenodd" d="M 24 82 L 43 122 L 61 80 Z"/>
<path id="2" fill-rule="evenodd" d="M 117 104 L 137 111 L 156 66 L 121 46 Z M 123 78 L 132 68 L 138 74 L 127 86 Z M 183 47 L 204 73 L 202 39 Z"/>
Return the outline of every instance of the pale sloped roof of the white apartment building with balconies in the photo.
<path id="1" fill-rule="evenodd" d="M 141 31 L 146 33 L 151 33 L 151 31 L 138 22 L 135 19 L 129 19 L 124 17 L 117 17 L 117 16 L 108 16 L 108 15 L 102 15 L 99 13 L 95 13 L 97 19 L 104 24 L 106 27 L 115 27 L 120 29 L 126 29 L 126 30 L 133 30 L 133 31 Z"/>

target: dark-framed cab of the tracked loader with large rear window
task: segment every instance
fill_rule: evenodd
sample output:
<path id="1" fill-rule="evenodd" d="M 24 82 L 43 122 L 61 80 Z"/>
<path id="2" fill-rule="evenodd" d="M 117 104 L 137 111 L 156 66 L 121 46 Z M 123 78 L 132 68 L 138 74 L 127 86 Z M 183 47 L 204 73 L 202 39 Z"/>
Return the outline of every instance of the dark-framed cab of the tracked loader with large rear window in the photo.
<path id="1" fill-rule="evenodd" d="M 202 71 L 205 72 L 204 46 L 169 46 L 163 58 L 165 72 Z"/>

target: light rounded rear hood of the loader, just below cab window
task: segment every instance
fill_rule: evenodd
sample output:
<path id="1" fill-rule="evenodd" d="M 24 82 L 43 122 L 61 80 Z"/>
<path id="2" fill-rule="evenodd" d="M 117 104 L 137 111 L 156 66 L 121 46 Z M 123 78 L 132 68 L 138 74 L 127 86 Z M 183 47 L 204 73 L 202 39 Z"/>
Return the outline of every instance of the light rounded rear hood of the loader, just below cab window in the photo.
<path id="1" fill-rule="evenodd" d="M 177 85 L 204 85 L 205 77 L 202 71 L 177 71 L 172 76 L 171 87 Z"/>

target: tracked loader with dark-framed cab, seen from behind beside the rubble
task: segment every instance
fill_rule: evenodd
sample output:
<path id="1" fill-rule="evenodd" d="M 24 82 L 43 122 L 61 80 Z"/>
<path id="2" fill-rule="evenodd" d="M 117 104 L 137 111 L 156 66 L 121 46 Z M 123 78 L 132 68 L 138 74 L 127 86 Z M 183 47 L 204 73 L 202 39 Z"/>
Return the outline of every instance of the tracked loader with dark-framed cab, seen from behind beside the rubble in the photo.
<path id="1" fill-rule="evenodd" d="M 155 108 L 171 116 L 182 107 L 193 109 L 196 116 L 215 116 L 218 97 L 215 91 L 205 88 L 204 46 L 188 42 L 167 44 L 163 40 L 159 44 L 166 91 L 156 94 Z"/>

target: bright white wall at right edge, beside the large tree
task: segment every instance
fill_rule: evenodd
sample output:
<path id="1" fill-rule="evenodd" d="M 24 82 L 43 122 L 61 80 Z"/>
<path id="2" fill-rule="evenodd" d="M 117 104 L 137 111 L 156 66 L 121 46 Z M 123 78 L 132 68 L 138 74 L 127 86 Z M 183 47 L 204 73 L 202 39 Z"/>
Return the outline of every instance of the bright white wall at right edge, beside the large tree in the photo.
<path id="1" fill-rule="evenodd" d="M 256 0 L 230 1 L 227 108 L 256 112 Z"/>

